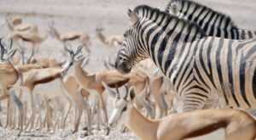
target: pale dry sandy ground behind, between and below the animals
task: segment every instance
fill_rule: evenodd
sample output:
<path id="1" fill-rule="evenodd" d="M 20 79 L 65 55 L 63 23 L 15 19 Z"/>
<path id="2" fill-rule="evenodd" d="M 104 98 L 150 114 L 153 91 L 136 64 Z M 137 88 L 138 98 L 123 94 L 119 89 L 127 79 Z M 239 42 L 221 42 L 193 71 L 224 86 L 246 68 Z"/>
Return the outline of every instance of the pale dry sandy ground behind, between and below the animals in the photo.
<path id="1" fill-rule="evenodd" d="M 205 3 L 211 8 L 218 9 L 224 14 L 229 14 L 236 24 L 251 30 L 256 30 L 256 1 L 255 0 L 196 0 Z M 84 31 L 92 38 L 92 55 L 90 64 L 86 69 L 90 72 L 103 70 L 102 59 L 116 52 L 114 48 L 106 48 L 96 38 L 96 27 L 103 27 L 107 35 L 119 34 L 129 25 L 126 12 L 138 4 L 148 4 L 154 7 L 165 8 L 168 0 L 0 0 L 0 24 L 6 14 L 19 14 L 29 23 L 39 25 L 40 31 L 46 34 L 51 21 L 60 31 Z M 2 27 L 0 36 L 7 34 L 7 29 Z M 48 38 L 40 48 L 40 57 L 59 58 L 61 44 Z M 1 78 L 1 77 L 0 77 Z M 37 87 L 36 92 L 55 92 L 60 90 L 57 81 Z M 0 128 L 0 139 L 16 139 L 16 132 Z M 219 136 L 219 133 L 218 133 Z M 79 133 L 58 132 L 55 135 L 48 133 L 32 132 L 24 134 L 20 139 L 80 139 Z M 120 134 L 111 132 L 104 137 L 102 132 L 84 139 L 109 139 L 125 140 L 136 139 L 131 133 Z M 217 139 L 216 136 L 212 139 Z"/>

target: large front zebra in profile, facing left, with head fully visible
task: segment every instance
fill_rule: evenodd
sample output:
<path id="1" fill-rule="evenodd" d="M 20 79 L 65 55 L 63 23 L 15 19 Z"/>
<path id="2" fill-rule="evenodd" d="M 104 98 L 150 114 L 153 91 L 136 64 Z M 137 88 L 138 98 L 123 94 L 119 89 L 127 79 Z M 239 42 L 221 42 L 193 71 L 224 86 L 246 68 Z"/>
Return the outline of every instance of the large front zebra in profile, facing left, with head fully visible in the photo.
<path id="1" fill-rule="evenodd" d="M 206 36 L 198 25 L 146 5 L 128 14 L 132 25 L 115 61 L 121 73 L 152 59 L 172 83 L 177 112 L 255 107 L 256 39 Z"/>

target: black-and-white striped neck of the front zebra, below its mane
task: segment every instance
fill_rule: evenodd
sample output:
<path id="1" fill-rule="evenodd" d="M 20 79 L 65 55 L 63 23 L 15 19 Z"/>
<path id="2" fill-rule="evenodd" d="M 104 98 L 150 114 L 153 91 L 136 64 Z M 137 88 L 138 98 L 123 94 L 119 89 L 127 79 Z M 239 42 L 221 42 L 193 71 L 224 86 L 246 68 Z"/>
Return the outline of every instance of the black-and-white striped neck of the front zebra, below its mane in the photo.
<path id="1" fill-rule="evenodd" d="M 204 36 L 195 26 L 188 25 L 183 20 L 174 19 L 170 22 L 168 28 L 153 26 L 152 32 L 144 36 L 145 42 L 148 42 L 151 59 L 165 74 L 177 53 L 183 54 L 184 44 L 194 42 Z"/>

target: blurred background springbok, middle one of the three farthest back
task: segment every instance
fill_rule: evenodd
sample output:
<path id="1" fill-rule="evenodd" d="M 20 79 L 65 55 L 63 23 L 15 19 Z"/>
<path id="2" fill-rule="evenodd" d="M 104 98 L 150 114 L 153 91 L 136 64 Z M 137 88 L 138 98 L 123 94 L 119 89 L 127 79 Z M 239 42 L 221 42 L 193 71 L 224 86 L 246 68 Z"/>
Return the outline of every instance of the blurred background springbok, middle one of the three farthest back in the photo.
<path id="1" fill-rule="evenodd" d="M 85 48 L 85 50 L 90 53 L 90 36 L 85 34 L 81 31 L 69 31 L 66 33 L 61 34 L 59 31 L 57 31 L 54 27 L 54 24 L 52 23 L 49 25 L 49 33 L 52 36 L 55 36 L 55 38 L 62 42 L 63 45 L 67 45 L 68 41 L 79 41 L 81 42 L 82 46 Z"/>

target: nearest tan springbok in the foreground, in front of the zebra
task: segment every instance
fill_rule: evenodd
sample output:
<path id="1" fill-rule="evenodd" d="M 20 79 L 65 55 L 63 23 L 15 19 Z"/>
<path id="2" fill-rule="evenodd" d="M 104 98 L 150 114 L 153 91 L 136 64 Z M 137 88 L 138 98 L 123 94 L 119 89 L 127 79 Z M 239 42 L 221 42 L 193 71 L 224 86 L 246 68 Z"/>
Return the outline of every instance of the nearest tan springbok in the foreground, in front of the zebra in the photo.
<path id="1" fill-rule="evenodd" d="M 227 140 L 256 138 L 256 120 L 241 109 L 201 109 L 148 120 L 137 110 L 133 87 L 124 98 L 119 98 L 118 92 L 116 94 L 108 126 L 113 127 L 125 117 L 125 125 L 143 140 L 182 140 L 206 135 L 219 128 L 224 128 Z"/>

